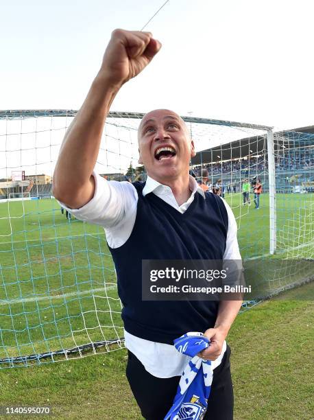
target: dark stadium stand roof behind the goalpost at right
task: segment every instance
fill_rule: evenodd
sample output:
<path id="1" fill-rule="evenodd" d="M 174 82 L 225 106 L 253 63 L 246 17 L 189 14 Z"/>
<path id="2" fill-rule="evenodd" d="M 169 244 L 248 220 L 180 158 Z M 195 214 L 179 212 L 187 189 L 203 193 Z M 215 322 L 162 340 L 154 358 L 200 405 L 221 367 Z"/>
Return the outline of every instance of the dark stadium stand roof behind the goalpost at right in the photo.
<path id="1" fill-rule="evenodd" d="M 304 135 L 302 135 L 302 133 Z M 314 126 L 293 128 L 292 130 L 278 131 L 276 135 L 276 144 L 287 145 L 289 141 L 298 142 L 299 146 L 309 145 L 309 139 L 314 141 Z M 229 161 L 230 159 L 241 159 L 243 156 L 256 156 L 263 154 L 267 150 L 267 136 L 259 135 L 245 137 L 230 143 L 217 145 L 214 148 L 200 150 L 191 160 L 192 165 L 202 165 L 202 163 L 210 163 L 217 161 Z"/>

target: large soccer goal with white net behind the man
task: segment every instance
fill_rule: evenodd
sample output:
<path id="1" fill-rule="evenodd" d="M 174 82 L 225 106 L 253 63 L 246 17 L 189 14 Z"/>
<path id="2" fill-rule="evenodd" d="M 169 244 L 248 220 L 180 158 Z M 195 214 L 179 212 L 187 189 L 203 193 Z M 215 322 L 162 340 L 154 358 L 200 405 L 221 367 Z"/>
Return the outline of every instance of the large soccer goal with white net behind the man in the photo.
<path id="1" fill-rule="evenodd" d="M 142 116 L 110 113 L 98 174 L 145 181 L 145 168 L 138 165 Z M 121 302 L 104 229 L 67 215 L 51 192 L 60 144 L 74 117 L 69 110 L 0 112 L 0 368 L 123 345 Z M 261 297 L 309 281 L 308 261 L 314 256 L 311 130 L 273 132 L 265 126 L 183 118 L 197 150 L 191 175 L 231 206 L 245 270 L 258 274 L 266 291 Z"/>

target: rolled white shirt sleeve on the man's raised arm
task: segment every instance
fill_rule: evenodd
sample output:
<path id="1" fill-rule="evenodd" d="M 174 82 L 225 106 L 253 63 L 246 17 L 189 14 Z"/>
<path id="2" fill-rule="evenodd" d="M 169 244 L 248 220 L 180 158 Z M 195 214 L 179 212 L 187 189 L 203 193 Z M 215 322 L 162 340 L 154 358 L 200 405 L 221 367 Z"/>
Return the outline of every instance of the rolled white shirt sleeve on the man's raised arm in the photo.
<path id="1" fill-rule="evenodd" d="M 84 222 L 99 224 L 106 231 L 106 239 L 111 248 L 123 245 L 134 226 L 138 194 L 127 181 L 108 181 L 93 172 L 95 193 L 93 198 L 80 209 L 69 209 L 59 204 Z"/>

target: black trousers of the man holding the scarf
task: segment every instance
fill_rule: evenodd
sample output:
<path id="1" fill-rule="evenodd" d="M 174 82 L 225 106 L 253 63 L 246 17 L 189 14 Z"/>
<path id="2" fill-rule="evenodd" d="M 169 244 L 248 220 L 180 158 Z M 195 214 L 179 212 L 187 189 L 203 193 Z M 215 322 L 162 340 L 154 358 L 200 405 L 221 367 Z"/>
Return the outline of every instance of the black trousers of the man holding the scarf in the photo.
<path id="1" fill-rule="evenodd" d="M 213 384 L 204 420 L 233 419 L 233 388 L 230 373 L 230 347 L 214 369 Z M 173 404 L 180 376 L 162 379 L 148 373 L 136 356 L 128 351 L 126 376 L 136 402 L 146 420 L 163 420 Z"/>

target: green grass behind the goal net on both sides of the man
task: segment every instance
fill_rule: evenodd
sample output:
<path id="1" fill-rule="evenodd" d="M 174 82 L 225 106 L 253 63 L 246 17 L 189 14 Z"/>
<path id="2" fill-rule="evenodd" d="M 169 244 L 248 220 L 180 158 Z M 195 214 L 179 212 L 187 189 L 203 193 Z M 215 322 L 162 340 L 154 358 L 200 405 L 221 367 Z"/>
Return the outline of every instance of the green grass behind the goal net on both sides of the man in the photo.
<path id="1" fill-rule="evenodd" d="M 269 250 L 267 194 L 261 196 L 259 210 L 253 203 L 243 207 L 241 194 L 226 200 L 237 218 L 242 257 L 265 266 L 261 258 Z M 291 253 L 313 258 L 313 195 L 278 194 L 276 200 L 274 258 Z M 0 358 L 123 336 L 103 229 L 75 219 L 69 222 L 56 200 L 45 199 L 0 203 L 0 232 Z M 273 283 L 281 285 L 280 275 Z M 4 366 L 8 365 L 0 364 Z"/>

